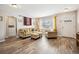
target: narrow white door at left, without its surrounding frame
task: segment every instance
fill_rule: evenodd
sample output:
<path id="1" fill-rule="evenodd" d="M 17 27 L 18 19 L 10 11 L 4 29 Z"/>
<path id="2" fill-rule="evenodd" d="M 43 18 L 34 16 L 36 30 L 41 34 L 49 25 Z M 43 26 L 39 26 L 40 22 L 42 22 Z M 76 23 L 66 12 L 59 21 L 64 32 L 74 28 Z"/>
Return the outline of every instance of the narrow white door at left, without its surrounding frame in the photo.
<path id="1" fill-rule="evenodd" d="M 8 18 L 8 37 L 16 36 L 16 18 Z"/>

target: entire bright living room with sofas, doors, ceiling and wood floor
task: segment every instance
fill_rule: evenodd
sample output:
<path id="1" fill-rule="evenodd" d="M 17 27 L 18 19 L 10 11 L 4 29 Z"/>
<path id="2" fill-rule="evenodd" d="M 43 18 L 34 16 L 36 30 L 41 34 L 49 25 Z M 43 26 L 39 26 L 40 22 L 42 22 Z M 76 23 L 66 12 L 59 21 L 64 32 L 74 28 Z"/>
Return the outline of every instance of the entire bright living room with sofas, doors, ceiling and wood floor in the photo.
<path id="1" fill-rule="evenodd" d="M 78 4 L 1 4 L 0 8 L 0 54 L 79 53 Z"/>

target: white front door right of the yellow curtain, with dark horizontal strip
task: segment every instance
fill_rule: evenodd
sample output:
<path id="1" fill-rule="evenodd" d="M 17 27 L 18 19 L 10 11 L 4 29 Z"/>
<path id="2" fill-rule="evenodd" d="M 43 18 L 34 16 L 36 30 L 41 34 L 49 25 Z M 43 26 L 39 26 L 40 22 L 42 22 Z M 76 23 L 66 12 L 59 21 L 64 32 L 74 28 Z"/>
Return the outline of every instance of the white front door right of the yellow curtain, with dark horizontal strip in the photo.
<path id="1" fill-rule="evenodd" d="M 76 14 L 67 13 L 62 17 L 62 36 L 75 37 L 76 34 Z"/>

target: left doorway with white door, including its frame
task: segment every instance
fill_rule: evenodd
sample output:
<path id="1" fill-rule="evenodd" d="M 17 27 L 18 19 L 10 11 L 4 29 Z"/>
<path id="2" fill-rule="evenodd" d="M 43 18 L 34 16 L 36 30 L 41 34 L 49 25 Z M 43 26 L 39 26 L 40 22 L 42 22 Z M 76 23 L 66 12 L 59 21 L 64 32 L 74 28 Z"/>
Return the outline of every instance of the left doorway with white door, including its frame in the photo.
<path id="1" fill-rule="evenodd" d="M 7 35 L 7 38 L 16 36 L 16 18 L 13 16 L 7 17 L 6 35 Z"/>

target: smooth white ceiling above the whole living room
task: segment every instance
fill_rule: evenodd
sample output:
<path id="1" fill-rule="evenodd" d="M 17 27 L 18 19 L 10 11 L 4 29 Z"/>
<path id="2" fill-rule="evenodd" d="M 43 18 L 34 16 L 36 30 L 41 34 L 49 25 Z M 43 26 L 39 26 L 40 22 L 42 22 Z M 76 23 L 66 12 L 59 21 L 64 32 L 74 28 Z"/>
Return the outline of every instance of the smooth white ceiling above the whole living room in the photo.
<path id="1" fill-rule="evenodd" d="M 68 10 L 65 10 L 68 8 Z M 8 4 L 0 4 L 0 15 L 44 17 L 57 13 L 77 10 L 78 4 L 19 4 L 17 8 Z"/>

